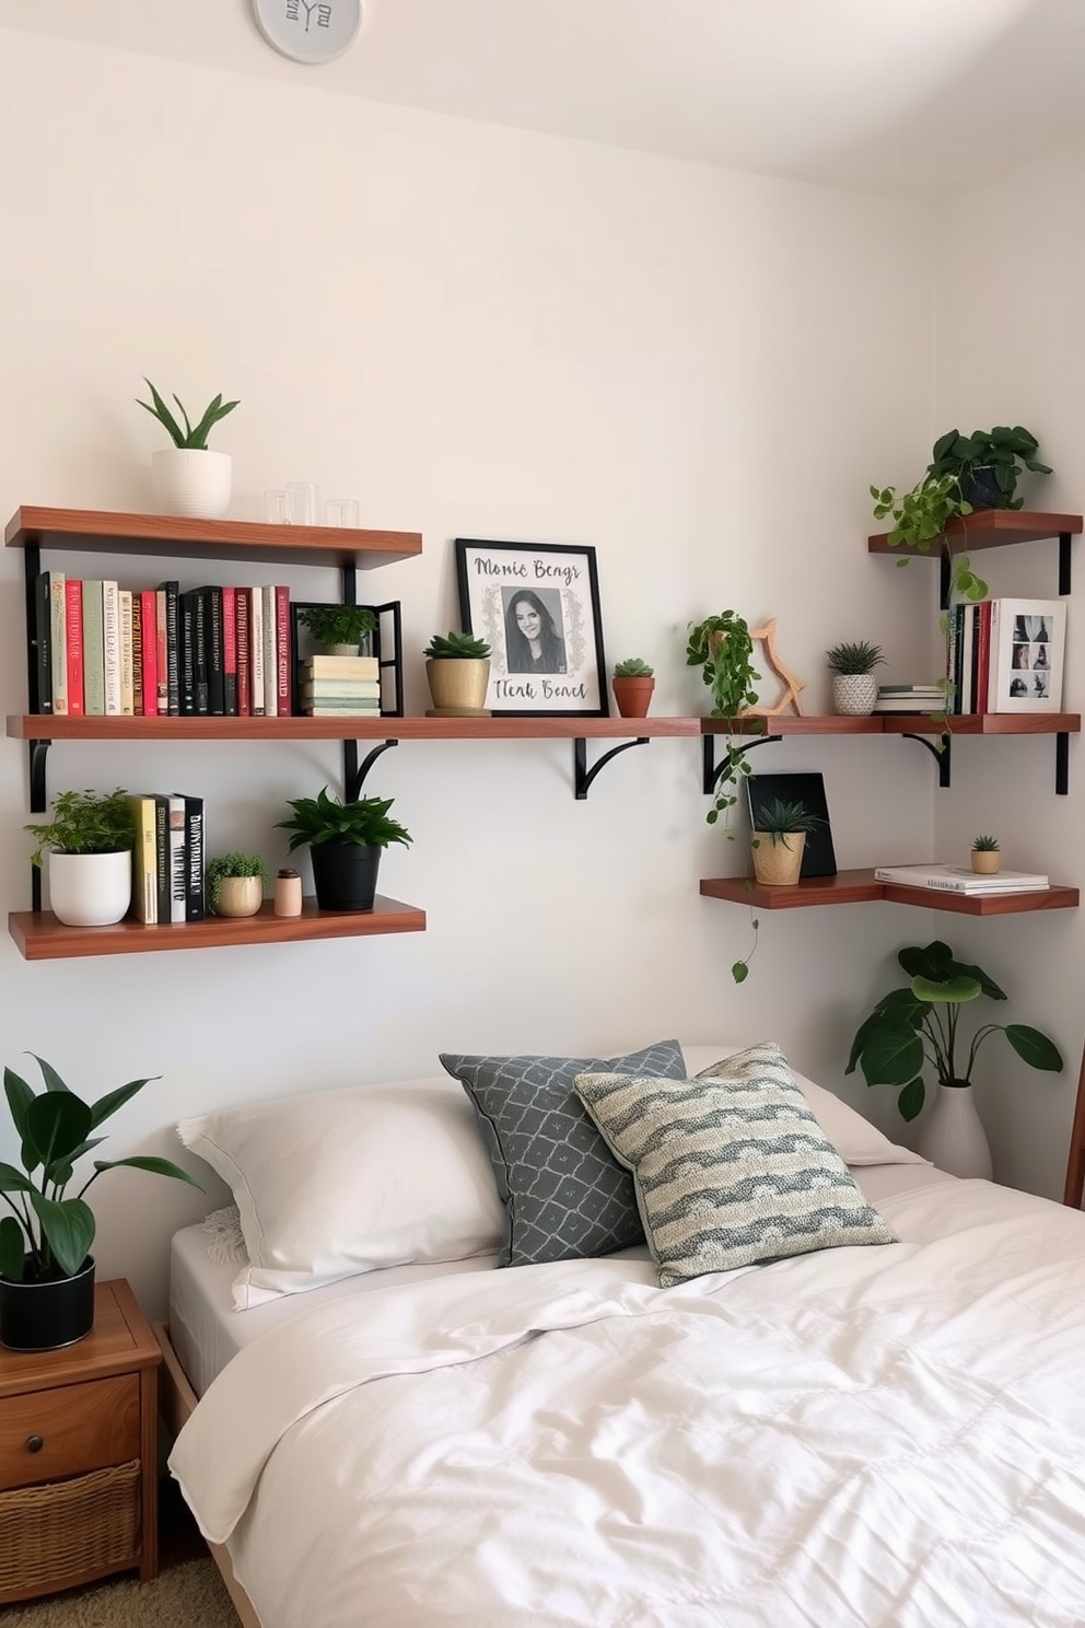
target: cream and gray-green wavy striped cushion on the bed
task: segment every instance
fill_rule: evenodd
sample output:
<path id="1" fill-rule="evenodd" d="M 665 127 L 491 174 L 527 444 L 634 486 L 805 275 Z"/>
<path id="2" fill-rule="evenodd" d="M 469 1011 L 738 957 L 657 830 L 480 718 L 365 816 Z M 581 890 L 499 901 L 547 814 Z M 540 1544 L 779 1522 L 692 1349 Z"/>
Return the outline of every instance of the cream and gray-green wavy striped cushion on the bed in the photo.
<path id="1" fill-rule="evenodd" d="M 773 1042 L 712 1079 L 584 1073 L 576 1091 L 631 1172 L 667 1288 L 846 1244 L 895 1244 Z"/>

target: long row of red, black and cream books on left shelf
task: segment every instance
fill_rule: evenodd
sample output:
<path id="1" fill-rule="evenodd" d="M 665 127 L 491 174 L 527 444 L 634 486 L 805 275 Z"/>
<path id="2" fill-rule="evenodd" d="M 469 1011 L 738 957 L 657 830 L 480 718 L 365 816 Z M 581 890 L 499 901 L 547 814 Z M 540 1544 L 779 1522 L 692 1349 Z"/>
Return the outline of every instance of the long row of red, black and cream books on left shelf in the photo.
<path id="1" fill-rule="evenodd" d="M 41 571 L 34 624 L 39 713 L 291 713 L 288 588 L 127 589 Z"/>

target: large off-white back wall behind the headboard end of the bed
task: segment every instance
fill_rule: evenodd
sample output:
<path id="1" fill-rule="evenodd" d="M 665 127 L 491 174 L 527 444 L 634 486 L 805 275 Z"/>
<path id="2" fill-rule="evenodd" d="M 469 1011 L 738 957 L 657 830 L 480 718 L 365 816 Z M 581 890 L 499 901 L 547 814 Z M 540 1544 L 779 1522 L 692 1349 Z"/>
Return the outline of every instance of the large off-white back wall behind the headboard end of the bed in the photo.
<path id="1" fill-rule="evenodd" d="M 459 625 L 455 536 L 592 544 L 607 650 L 656 664 L 660 711 L 706 710 L 685 625 L 729 606 L 779 619 L 808 711 L 828 710 L 838 640 L 883 643 L 901 677 L 924 663 L 932 576 L 864 539 L 869 482 L 909 482 L 929 443 L 934 274 L 924 234 L 887 234 L 877 200 L 0 41 L 2 518 L 148 506 L 148 374 L 197 409 L 241 397 L 213 441 L 234 457 L 239 518 L 264 488 L 312 479 L 356 493 L 363 524 L 423 532 L 421 558 L 363 584 L 403 602 L 408 710 L 426 702 L 423 643 Z M 168 571 L 101 565 L 129 584 Z M 11 713 L 21 567 L 0 558 Z M 192 586 L 184 562 L 177 575 Z M 296 571 L 291 588 L 330 597 L 335 583 Z M 919 747 L 784 742 L 760 747 L 761 765 L 825 772 L 841 866 L 929 855 Z M 285 799 L 335 785 L 338 754 L 57 746 L 49 777 L 203 791 L 208 851 L 244 842 L 277 864 Z M 841 1070 L 926 915 L 765 913 L 735 988 L 748 917 L 701 900 L 698 879 L 739 873 L 742 855 L 704 824 L 696 741 L 623 754 L 584 803 L 569 744 L 545 741 L 405 744 L 368 790 L 395 796 L 415 835 L 389 851 L 382 891 L 428 910 L 425 934 L 34 965 L 5 938 L 3 1061 L 41 1052 L 89 1094 L 161 1073 L 114 1156 L 172 1151 L 172 1122 L 205 1105 L 436 1071 L 446 1047 L 664 1034 L 774 1035 L 900 1130 L 891 1097 Z M 3 900 L 26 908 L 15 741 L 0 806 Z M 168 1236 L 200 1197 L 133 1174 L 96 1192 L 102 1270 L 159 1309 Z"/>

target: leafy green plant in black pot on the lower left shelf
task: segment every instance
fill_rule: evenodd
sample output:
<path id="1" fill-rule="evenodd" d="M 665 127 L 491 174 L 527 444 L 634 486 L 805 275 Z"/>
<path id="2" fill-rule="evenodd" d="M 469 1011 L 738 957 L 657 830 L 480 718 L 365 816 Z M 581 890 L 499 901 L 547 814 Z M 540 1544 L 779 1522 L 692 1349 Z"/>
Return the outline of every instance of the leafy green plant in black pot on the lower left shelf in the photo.
<path id="1" fill-rule="evenodd" d="M 312 884 L 320 910 L 373 910 L 381 853 L 392 842 L 408 843 L 410 832 L 389 817 L 392 798 L 340 803 L 327 786 L 316 798 L 288 799 L 294 812 L 278 821 L 291 832 L 290 851 L 309 847 Z"/>

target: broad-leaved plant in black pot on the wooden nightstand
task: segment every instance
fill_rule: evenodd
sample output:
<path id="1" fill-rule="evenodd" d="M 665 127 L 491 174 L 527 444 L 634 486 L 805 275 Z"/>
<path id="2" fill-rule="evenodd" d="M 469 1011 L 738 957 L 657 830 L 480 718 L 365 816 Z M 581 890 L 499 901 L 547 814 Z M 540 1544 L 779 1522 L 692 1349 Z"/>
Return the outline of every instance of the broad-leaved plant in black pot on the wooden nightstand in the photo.
<path id="1" fill-rule="evenodd" d="M 132 1079 L 88 1104 L 68 1089 L 50 1063 L 42 1057 L 36 1061 L 46 1081 L 39 1092 L 15 1070 L 3 1071 L 21 1169 L 0 1164 L 0 1198 L 11 1211 L 0 1219 L 0 1343 L 18 1351 L 72 1345 L 93 1327 L 94 1213 L 83 1195 L 102 1171 L 151 1171 L 200 1187 L 171 1159 L 137 1154 L 94 1159 L 93 1174 L 68 1198 L 76 1161 L 102 1141 L 93 1131 L 148 1079 Z"/>

